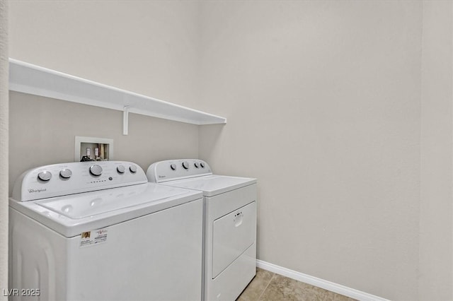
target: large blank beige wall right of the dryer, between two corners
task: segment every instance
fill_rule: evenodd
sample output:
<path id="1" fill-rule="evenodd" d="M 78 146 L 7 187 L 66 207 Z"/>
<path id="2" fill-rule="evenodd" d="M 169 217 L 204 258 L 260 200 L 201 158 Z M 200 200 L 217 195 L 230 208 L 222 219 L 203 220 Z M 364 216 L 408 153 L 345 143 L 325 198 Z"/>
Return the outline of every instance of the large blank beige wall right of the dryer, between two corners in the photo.
<path id="1" fill-rule="evenodd" d="M 418 298 L 422 3 L 206 2 L 200 158 L 258 177 L 258 256 Z"/>

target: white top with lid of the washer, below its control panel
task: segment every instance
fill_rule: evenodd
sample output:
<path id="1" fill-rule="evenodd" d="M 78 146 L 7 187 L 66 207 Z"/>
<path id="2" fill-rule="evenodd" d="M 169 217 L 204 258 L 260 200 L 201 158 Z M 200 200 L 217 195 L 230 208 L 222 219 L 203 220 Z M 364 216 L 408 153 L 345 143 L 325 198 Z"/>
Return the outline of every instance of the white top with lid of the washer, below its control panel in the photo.
<path id="1" fill-rule="evenodd" d="M 9 199 L 11 208 L 66 237 L 200 199 L 200 191 L 145 183 L 38 201 Z"/>

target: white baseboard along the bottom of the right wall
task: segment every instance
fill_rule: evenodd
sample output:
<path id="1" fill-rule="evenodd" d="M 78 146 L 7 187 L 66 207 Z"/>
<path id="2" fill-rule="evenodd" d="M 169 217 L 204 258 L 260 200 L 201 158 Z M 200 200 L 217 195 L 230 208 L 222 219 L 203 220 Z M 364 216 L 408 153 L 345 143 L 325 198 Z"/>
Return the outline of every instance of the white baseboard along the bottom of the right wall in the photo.
<path id="1" fill-rule="evenodd" d="M 292 271 L 289 268 L 283 268 L 282 266 L 270 264 L 269 262 L 262 261 L 259 259 L 256 260 L 256 266 L 258 266 L 258 268 L 263 268 L 264 270 L 271 271 L 273 273 L 277 273 L 297 281 L 308 283 L 319 288 L 323 288 L 325 290 L 330 290 L 333 293 L 345 295 L 347 297 L 351 297 L 360 301 L 389 301 L 387 299 L 384 299 L 383 297 L 378 297 L 375 295 L 371 295 L 369 293 L 362 292 L 360 290 L 355 290 L 354 288 L 348 288 L 345 285 L 340 285 L 338 283 L 326 281 L 321 278 L 306 275 L 304 273 Z"/>

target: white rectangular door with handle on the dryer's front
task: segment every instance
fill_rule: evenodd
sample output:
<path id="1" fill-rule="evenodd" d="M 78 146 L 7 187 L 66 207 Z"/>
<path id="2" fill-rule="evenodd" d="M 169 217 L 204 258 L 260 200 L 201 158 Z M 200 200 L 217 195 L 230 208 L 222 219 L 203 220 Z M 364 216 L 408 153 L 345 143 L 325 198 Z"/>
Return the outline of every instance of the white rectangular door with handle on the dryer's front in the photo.
<path id="1" fill-rule="evenodd" d="M 212 279 L 256 240 L 256 201 L 214 220 Z"/>

